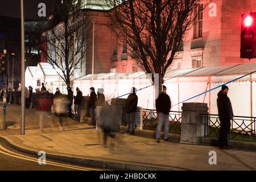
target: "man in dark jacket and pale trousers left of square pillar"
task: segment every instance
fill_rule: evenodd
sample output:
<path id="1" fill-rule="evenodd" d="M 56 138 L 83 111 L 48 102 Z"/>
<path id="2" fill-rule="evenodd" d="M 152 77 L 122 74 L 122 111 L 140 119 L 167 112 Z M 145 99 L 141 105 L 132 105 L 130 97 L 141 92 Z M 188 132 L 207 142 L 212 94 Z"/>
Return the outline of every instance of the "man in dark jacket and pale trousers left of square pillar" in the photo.
<path id="1" fill-rule="evenodd" d="M 163 85 L 163 92 L 156 99 L 155 107 L 158 112 L 158 128 L 156 130 L 156 142 L 160 142 L 160 134 L 164 123 L 164 140 L 169 138 L 169 112 L 171 109 L 171 100 L 166 93 L 166 86 Z"/>

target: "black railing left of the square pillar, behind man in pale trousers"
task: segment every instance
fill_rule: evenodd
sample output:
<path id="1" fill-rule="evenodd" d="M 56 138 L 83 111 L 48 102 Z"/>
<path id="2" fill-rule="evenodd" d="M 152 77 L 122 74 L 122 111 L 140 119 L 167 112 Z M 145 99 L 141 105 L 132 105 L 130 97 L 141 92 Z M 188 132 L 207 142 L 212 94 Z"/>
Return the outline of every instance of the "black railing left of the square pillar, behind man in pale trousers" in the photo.
<path id="1" fill-rule="evenodd" d="M 156 110 L 142 109 L 143 129 L 155 130 L 158 124 L 158 114 Z M 170 128 L 172 133 L 181 133 L 181 112 L 170 111 L 169 113 Z"/>

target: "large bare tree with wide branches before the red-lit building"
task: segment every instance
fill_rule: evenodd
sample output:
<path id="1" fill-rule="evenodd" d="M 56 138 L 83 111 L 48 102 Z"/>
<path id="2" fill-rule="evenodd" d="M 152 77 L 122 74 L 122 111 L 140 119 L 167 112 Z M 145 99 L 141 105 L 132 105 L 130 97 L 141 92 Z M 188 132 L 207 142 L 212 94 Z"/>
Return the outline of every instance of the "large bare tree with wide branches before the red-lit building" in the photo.
<path id="1" fill-rule="evenodd" d="M 163 78 L 196 18 L 200 0 L 105 0 L 111 8 L 110 28 L 128 53 L 146 73 L 159 74 L 159 92 Z"/>

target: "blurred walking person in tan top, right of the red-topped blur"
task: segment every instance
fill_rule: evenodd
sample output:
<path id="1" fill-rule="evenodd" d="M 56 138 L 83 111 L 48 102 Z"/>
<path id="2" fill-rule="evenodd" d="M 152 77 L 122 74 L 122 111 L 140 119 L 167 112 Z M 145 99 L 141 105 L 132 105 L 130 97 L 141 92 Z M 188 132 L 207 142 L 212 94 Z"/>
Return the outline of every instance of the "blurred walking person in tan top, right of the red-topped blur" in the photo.
<path id="1" fill-rule="evenodd" d="M 53 114 L 59 117 L 60 130 L 63 130 L 64 115 L 68 111 L 69 100 L 67 97 L 59 94 L 59 96 L 53 99 Z"/>

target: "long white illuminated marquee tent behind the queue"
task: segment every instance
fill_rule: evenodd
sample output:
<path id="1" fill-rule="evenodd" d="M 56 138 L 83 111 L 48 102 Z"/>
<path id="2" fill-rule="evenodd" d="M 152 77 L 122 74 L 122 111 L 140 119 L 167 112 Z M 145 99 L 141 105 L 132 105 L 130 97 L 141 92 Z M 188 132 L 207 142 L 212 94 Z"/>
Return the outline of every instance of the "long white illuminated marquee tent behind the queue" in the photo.
<path id="1" fill-rule="evenodd" d="M 166 73 L 164 85 L 167 86 L 167 93 L 171 97 L 171 110 L 181 111 L 181 102 L 188 98 L 248 74 L 228 84 L 230 88 L 229 97 L 232 101 L 235 115 L 256 116 L 256 73 L 253 73 L 254 71 L 256 71 L 256 64 L 174 69 L 169 71 Z M 27 68 L 26 86 L 36 85 L 36 80 L 45 82 L 50 92 L 59 87 L 58 71 L 48 63 L 39 63 L 36 68 Z M 60 85 L 60 90 L 65 93 L 66 86 L 62 80 Z M 91 86 L 96 90 L 97 88 L 104 88 L 106 100 L 120 96 L 122 96 L 121 98 L 127 98 L 127 95 L 123 95 L 129 93 L 131 86 L 135 86 L 137 89 L 144 88 L 137 92 L 139 98 L 138 106 L 144 109 L 154 109 L 154 86 L 150 85 L 150 78 L 144 72 L 100 73 L 93 75 L 93 79 L 92 75 L 86 75 L 76 78 L 75 81 L 75 87 L 79 87 L 84 96 L 89 94 Z M 215 89 L 201 94 L 186 102 L 205 102 L 208 104 L 209 113 L 217 114 L 216 99 L 219 90 Z"/>

